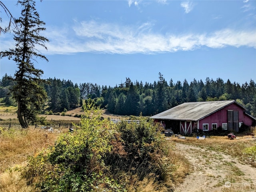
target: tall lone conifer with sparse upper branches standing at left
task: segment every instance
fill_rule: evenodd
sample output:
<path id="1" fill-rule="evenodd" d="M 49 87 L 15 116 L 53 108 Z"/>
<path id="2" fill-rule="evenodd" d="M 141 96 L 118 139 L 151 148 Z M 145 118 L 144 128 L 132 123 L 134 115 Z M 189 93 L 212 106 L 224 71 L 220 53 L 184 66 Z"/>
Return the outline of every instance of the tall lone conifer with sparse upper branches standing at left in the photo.
<path id="1" fill-rule="evenodd" d="M 46 99 L 46 92 L 41 86 L 43 80 L 40 78 L 43 71 L 34 67 L 35 58 L 47 58 L 35 48 L 42 46 L 48 39 L 40 36 L 39 32 L 45 30 L 45 23 L 40 20 L 38 12 L 35 9 L 34 0 L 18 0 L 23 9 L 21 17 L 15 22 L 19 28 L 14 30 L 14 41 L 16 47 L 1 52 L 2 57 L 14 60 L 18 65 L 18 70 L 14 74 L 16 85 L 11 92 L 18 104 L 18 120 L 22 128 L 28 128 L 28 121 L 34 122 L 36 115 L 42 108 Z"/>

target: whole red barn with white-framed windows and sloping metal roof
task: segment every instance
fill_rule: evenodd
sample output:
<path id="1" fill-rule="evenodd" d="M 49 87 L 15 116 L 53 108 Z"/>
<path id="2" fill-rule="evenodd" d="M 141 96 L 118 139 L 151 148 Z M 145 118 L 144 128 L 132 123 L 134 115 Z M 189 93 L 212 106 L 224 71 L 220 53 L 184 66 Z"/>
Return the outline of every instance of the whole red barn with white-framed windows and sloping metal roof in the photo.
<path id="1" fill-rule="evenodd" d="M 193 129 L 210 131 L 220 127 L 222 130 L 238 132 L 242 124 L 252 126 L 256 120 L 234 100 L 187 102 L 151 118 L 161 122 L 165 129 L 185 135 L 192 133 Z"/>

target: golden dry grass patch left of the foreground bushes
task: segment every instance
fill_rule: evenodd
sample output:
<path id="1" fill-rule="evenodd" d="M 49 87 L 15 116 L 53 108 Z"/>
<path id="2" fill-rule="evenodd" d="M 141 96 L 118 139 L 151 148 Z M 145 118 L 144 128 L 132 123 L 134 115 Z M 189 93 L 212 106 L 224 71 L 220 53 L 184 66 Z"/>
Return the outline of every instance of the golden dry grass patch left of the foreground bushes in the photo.
<path id="1" fill-rule="evenodd" d="M 46 138 L 47 134 L 47 138 Z M 26 181 L 18 171 L 26 166 L 27 158 L 54 144 L 60 133 L 44 130 L 10 129 L 0 134 L 0 192 L 28 192 Z"/>

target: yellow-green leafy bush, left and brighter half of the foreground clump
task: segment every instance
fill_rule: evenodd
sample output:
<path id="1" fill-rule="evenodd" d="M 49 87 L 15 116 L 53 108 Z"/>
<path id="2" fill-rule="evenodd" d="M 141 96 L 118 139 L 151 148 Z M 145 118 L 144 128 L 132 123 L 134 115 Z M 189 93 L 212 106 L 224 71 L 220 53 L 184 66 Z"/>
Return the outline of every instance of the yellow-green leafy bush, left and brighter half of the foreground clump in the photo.
<path id="1" fill-rule="evenodd" d="M 106 174 L 104 164 L 116 131 L 110 121 L 101 120 L 99 108 L 87 103 L 84 109 L 80 129 L 60 136 L 52 148 L 30 158 L 24 176 L 38 191 L 126 191 Z"/>

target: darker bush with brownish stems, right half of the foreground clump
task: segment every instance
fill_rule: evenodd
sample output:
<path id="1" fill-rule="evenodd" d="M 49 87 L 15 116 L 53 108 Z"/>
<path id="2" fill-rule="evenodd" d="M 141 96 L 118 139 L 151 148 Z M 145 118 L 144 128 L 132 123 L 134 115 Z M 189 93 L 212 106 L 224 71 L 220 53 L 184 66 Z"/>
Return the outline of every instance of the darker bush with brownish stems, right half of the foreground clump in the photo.
<path id="1" fill-rule="evenodd" d="M 111 165 L 112 171 L 130 172 L 138 176 L 139 180 L 143 180 L 149 174 L 158 175 L 160 180 L 164 179 L 163 167 L 159 160 L 165 155 L 165 147 L 158 126 L 141 117 L 139 123 L 120 122 L 118 132 L 126 155 L 115 153 L 109 157 L 108 164 Z"/>

